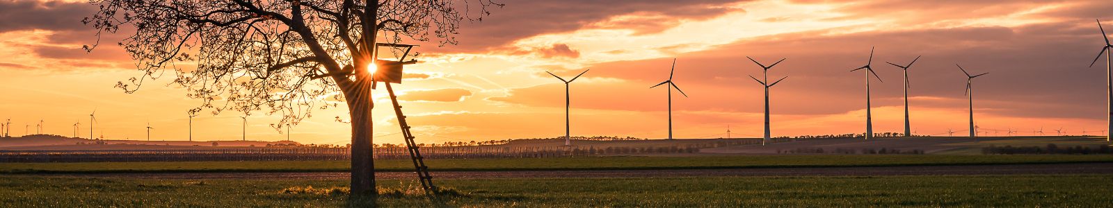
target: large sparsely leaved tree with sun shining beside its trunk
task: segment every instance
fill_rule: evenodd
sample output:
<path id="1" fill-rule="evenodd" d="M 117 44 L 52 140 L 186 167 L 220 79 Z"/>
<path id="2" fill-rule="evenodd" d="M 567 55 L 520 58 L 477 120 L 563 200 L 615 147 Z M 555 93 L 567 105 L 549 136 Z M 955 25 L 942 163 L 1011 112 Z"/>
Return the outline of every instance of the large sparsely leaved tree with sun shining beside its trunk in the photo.
<path id="1" fill-rule="evenodd" d="M 92 0 L 82 20 L 102 34 L 135 30 L 119 42 L 141 75 L 117 87 L 140 89 L 173 70 L 173 85 L 211 110 L 267 111 L 272 124 L 297 124 L 314 108 L 347 105 L 352 126 L 352 193 L 375 194 L 368 67 L 380 41 L 455 44 L 461 22 L 490 14 L 491 0 Z M 130 32 L 129 32 L 130 33 Z M 97 44 L 86 45 L 87 51 Z M 395 51 L 397 52 L 397 51 Z M 246 112 L 245 112 L 246 113 Z"/>

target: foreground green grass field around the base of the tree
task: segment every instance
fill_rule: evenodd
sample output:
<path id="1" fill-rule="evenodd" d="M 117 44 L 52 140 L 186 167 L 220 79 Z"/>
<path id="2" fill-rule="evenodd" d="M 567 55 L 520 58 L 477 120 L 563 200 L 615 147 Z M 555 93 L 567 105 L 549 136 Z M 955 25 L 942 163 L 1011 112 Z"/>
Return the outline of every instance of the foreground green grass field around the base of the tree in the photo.
<path id="1" fill-rule="evenodd" d="M 0 207 L 338 207 L 346 180 L 0 176 Z M 1113 175 L 445 179 L 386 207 L 1106 207 Z M 361 204 L 364 205 L 364 204 Z"/>

